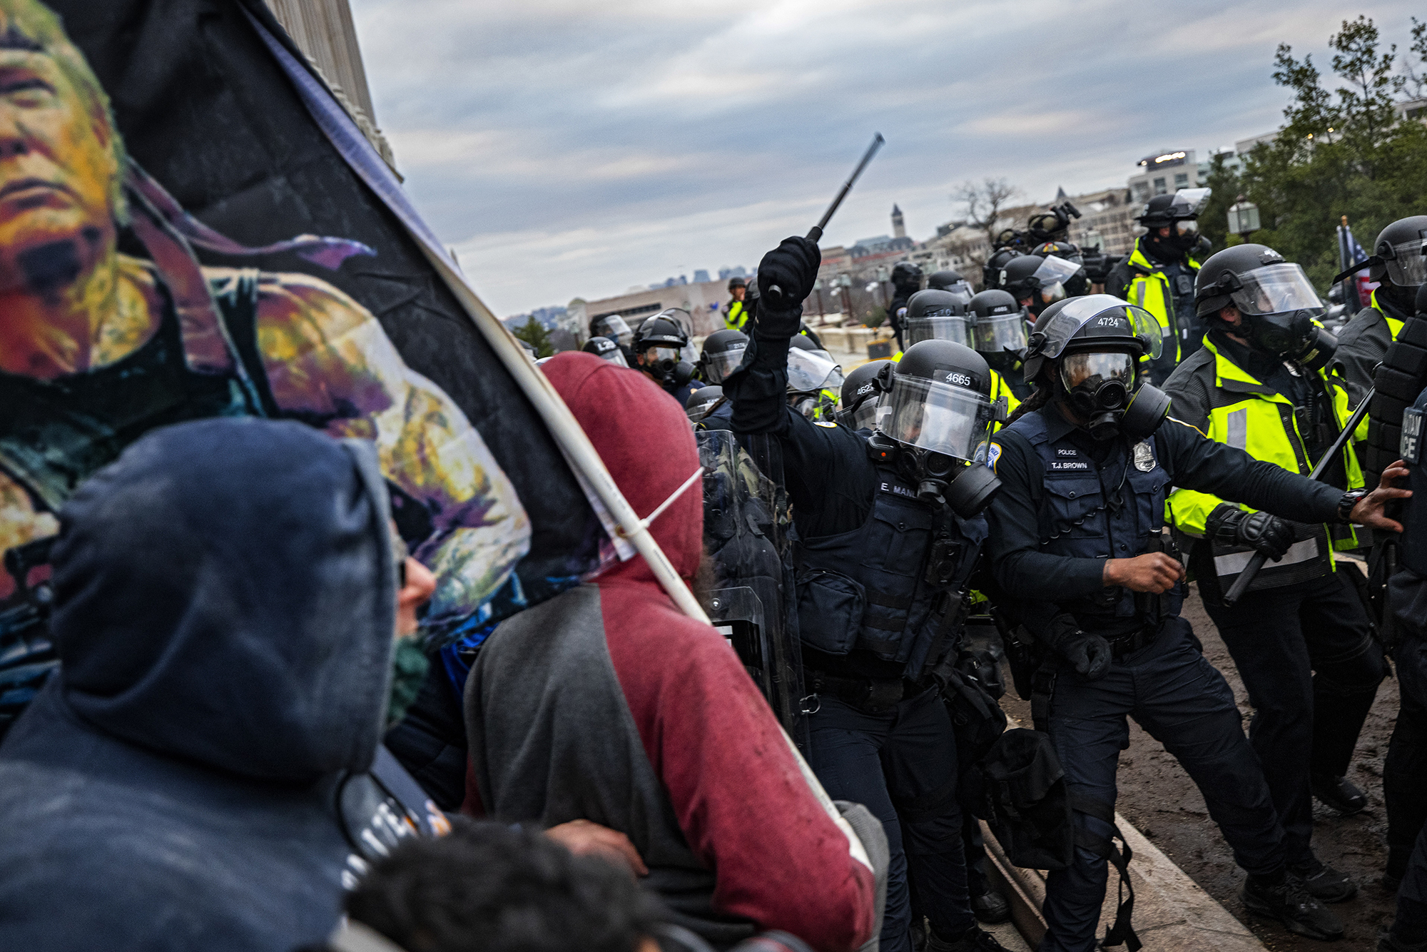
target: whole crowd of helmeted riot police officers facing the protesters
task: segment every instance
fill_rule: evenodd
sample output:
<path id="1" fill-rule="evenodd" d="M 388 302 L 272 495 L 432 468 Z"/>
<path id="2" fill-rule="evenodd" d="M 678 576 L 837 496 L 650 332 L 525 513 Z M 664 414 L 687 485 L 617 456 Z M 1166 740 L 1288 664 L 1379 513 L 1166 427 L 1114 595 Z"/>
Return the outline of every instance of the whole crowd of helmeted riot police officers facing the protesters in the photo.
<path id="1" fill-rule="evenodd" d="M 1427 502 L 1408 491 L 1427 485 L 1427 216 L 1383 230 L 1361 265 L 1378 287 L 1334 335 L 1297 264 L 1259 244 L 1212 253 L 1207 194 L 1152 198 L 1122 261 L 1066 240 L 1066 203 L 1002 236 L 979 293 L 898 264 L 896 354 L 846 375 L 802 323 L 821 261 L 803 238 L 731 283 L 702 353 L 676 311 L 591 327 L 585 350 L 649 374 L 696 430 L 762 440 L 776 470 L 809 761 L 885 826 L 885 952 L 999 948 L 976 926 L 1009 909 L 969 806 L 995 796 L 968 788 L 1015 756 L 966 749 L 958 715 L 969 689 L 995 705 L 997 659 L 1045 745 L 1020 765 L 1056 761 L 1073 816 L 1073 846 L 1037 864 L 1043 952 L 1095 948 L 1107 862 L 1123 875 L 1127 716 L 1200 788 L 1244 905 L 1341 936 L 1326 905 L 1359 883 L 1314 854 L 1313 801 L 1367 806 L 1347 774 L 1388 657 L 1383 883 L 1398 912 L 1380 949 L 1427 949 Z M 1249 691 L 1247 738 L 1180 615 L 1189 581 Z M 1015 839 L 1007 814 L 985 816 Z M 1122 941 L 1137 948 L 1127 916 L 1106 945 Z"/>

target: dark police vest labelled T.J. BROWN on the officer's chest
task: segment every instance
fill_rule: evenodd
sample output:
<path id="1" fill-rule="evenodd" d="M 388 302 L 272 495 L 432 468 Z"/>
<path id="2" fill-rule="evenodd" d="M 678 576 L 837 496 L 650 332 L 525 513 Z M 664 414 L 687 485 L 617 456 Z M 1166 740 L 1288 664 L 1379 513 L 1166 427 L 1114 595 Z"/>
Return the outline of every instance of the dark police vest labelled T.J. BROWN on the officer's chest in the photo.
<path id="1" fill-rule="evenodd" d="M 1026 414 L 1010 430 L 1023 435 L 1045 467 L 1040 494 L 1040 551 L 1070 558 L 1133 558 L 1156 548 L 1164 525 L 1169 472 L 1159 462 L 1154 437 L 1130 444 L 1113 440 L 1104 464 L 1076 447 L 1069 434 L 1052 442 L 1040 410 Z M 1035 475 L 1032 475 L 1035 480 Z M 1127 588 L 1112 587 L 1060 605 L 1082 627 L 1110 634 L 1129 631 L 1150 599 Z M 1160 615 L 1177 615 L 1184 601 L 1183 582 L 1159 597 Z"/>

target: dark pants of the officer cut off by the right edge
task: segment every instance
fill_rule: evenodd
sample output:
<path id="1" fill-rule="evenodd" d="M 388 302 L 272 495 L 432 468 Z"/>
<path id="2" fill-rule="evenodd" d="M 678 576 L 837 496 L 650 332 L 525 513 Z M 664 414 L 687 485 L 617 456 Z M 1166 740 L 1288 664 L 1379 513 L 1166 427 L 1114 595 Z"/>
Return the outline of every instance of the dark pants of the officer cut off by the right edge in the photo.
<path id="1" fill-rule="evenodd" d="M 1423 852 L 1420 834 L 1427 825 L 1427 642 L 1406 635 L 1393 657 L 1401 707 L 1383 765 L 1383 799 L 1387 801 L 1387 872 L 1401 879 L 1413 845 L 1418 844 L 1417 852 Z M 1427 893 L 1427 873 L 1421 879 Z M 1421 901 L 1427 902 L 1427 895 Z"/>

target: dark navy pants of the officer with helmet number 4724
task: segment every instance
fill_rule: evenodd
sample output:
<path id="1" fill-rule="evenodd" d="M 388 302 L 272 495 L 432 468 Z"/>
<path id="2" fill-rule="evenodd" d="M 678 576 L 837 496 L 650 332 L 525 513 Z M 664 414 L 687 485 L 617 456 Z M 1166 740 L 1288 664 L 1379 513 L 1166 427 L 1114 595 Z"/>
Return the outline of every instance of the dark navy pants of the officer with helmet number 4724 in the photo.
<path id="1" fill-rule="evenodd" d="M 1114 772 L 1130 744 L 1126 716 L 1184 766 L 1244 871 L 1266 875 L 1283 866 L 1283 828 L 1233 691 L 1204 661 L 1183 618 L 1166 619 L 1159 638 L 1117 658 L 1097 681 L 1062 665 L 1049 734 L 1070 794 L 1114 804 Z M 1080 812 L 1075 822 L 1096 836 L 1112 834 L 1109 824 Z M 1106 879 L 1106 861 L 1085 848 L 1076 848 L 1067 869 L 1050 871 L 1040 952 L 1093 952 Z"/>

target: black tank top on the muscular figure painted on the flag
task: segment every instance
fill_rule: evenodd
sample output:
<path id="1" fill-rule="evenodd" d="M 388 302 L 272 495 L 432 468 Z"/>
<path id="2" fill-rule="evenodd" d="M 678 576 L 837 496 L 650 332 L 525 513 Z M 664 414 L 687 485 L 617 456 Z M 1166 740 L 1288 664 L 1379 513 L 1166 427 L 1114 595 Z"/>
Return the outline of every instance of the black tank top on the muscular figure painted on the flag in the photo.
<path id="1" fill-rule="evenodd" d="M 156 427 L 268 415 L 255 331 L 258 273 L 214 281 L 213 291 L 241 371 L 188 370 L 178 317 L 167 304 L 154 335 L 113 364 L 56 380 L 0 373 L 0 470 L 56 512 L 84 480 Z"/>

